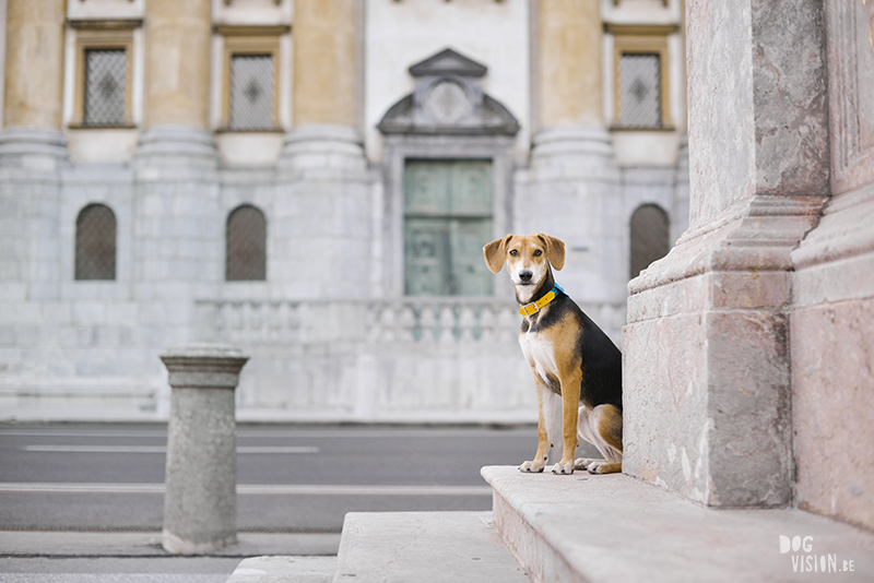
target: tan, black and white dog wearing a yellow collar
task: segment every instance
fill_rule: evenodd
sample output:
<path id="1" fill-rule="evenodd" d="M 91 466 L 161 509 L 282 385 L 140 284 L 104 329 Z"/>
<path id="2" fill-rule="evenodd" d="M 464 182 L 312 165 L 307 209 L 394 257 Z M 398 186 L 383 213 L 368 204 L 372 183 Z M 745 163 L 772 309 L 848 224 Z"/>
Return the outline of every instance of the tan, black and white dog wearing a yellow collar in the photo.
<path id="1" fill-rule="evenodd" d="M 556 285 L 553 267 L 564 267 L 565 243 L 542 233 L 507 235 L 483 253 L 492 273 L 506 265 L 510 274 L 524 317 L 519 344 L 538 390 L 538 452 L 519 469 L 543 472 L 560 400 L 564 451 L 553 474 L 622 472 L 622 353 Z M 578 433 L 602 460 L 574 460 Z"/>

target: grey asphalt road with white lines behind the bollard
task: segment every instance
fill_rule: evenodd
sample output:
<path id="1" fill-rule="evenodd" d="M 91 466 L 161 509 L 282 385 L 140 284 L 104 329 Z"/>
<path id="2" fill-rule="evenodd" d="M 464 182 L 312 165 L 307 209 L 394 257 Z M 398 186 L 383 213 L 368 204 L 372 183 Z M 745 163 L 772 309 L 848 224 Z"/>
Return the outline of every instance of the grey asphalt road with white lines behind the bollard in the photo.
<path id="1" fill-rule="evenodd" d="M 0 425 L 0 531 L 160 531 L 166 426 Z M 350 511 L 489 510 L 483 465 L 536 429 L 240 426 L 240 532 L 339 532 Z"/>

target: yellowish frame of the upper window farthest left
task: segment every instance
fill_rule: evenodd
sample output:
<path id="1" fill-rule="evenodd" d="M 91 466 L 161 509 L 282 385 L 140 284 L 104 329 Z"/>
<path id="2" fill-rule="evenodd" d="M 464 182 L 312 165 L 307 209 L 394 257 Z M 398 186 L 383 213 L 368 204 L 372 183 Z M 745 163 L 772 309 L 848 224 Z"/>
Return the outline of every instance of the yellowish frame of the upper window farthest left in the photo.
<path id="1" fill-rule="evenodd" d="M 137 23 L 121 23 L 107 28 L 76 28 L 73 116 L 68 127 L 90 130 L 131 129 L 137 127 L 133 122 L 133 29 L 137 26 Z M 90 50 L 125 51 L 125 120 L 121 123 L 85 123 L 85 67 L 86 55 Z"/>

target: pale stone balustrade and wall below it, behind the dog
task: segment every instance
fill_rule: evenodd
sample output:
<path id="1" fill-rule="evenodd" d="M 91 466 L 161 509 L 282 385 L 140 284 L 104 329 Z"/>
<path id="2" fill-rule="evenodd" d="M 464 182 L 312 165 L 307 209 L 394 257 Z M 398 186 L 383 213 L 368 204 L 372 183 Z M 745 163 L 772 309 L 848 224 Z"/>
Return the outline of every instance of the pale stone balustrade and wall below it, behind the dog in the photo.
<path id="1" fill-rule="evenodd" d="M 582 308 L 616 337 L 624 306 Z M 208 300 L 196 313 L 196 340 L 251 355 L 237 389 L 247 420 L 536 419 L 512 299 Z"/>

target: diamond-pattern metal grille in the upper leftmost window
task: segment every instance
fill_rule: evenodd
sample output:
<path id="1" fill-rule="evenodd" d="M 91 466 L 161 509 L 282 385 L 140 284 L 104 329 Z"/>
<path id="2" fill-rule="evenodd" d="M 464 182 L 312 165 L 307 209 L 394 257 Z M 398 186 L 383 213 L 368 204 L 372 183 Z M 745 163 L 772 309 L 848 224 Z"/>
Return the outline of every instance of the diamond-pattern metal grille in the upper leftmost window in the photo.
<path id="1" fill-rule="evenodd" d="M 128 57 L 125 49 L 85 51 L 85 126 L 122 126 L 126 121 Z"/>

